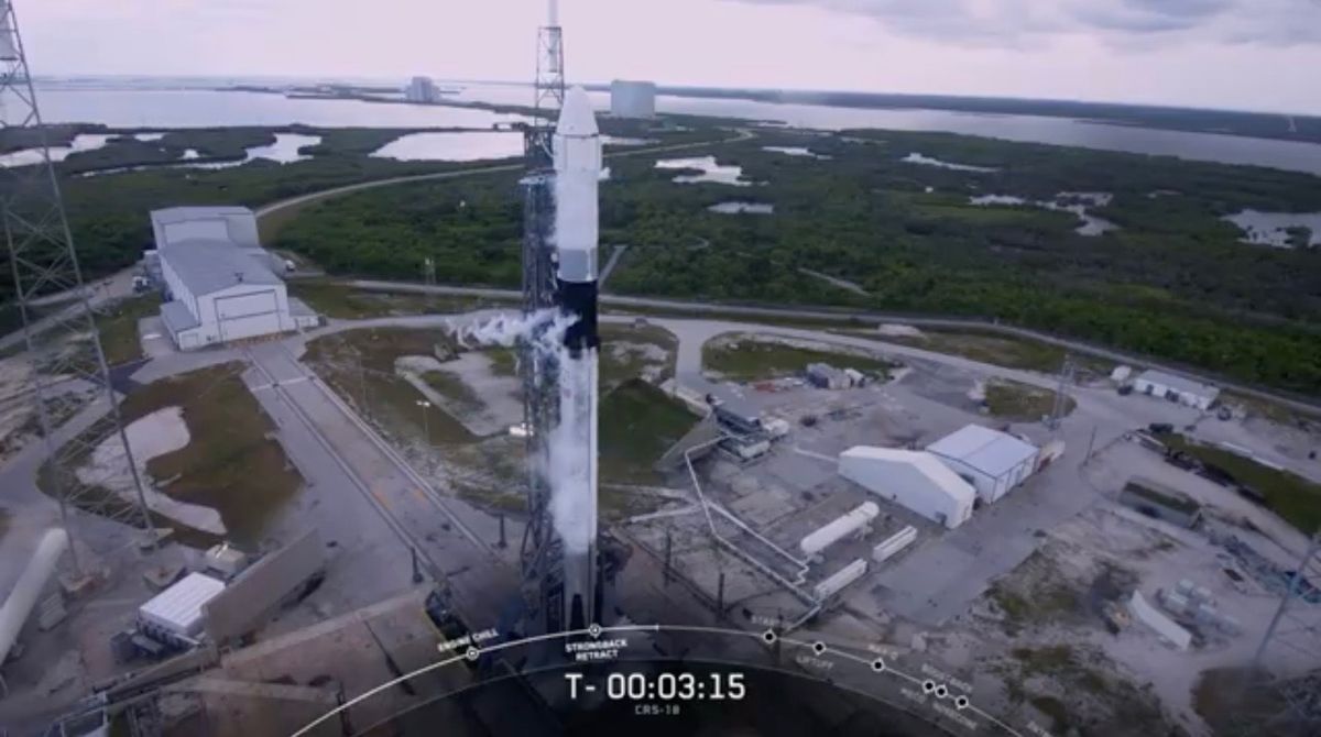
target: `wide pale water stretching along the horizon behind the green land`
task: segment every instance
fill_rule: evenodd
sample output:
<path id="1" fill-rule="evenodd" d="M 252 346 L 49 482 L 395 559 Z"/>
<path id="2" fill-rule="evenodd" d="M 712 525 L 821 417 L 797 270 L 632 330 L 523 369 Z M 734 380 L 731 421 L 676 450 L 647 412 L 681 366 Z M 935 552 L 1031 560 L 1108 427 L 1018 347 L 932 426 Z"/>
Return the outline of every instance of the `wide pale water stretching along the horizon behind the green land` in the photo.
<path id="1" fill-rule="evenodd" d="M 123 85 L 127 85 L 122 82 Z M 446 85 L 448 86 L 448 85 Z M 608 92 L 590 92 L 598 110 Z M 515 85 L 465 85 L 457 100 L 531 106 L 532 91 Z M 104 123 L 115 127 L 288 125 L 321 127 L 468 127 L 490 128 L 520 120 L 485 110 L 444 106 L 367 103 L 361 100 L 289 99 L 277 94 L 178 88 L 71 88 L 38 91 L 42 118 L 52 123 Z M 775 104 L 733 98 L 657 98 L 660 112 L 779 122 L 799 128 L 839 131 L 881 128 L 943 131 L 1012 141 L 1074 145 L 1103 151 L 1177 156 L 1223 164 L 1255 164 L 1321 174 L 1321 145 L 1108 125 L 1090 120 L 1037 115 L 984 115 L 945 110 L 868 110 L 812 104 Z"/>

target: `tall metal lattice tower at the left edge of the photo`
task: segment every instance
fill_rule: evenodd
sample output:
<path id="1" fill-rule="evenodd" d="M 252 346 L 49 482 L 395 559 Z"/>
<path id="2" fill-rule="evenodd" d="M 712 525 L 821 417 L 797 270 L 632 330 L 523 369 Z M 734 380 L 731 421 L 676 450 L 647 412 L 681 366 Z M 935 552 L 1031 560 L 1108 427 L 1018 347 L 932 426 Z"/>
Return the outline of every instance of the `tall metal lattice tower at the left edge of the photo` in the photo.
<path id="1" fill-rule="evenodd" d="M 75 509 L 151 530 L 141 478 L 110 383 L 18 24 L 8 0 L 0 0 L 0 144 L 41 152 L 34 164 L 0 168 L 0 217 L 13 277 L 13 302 L 22 316 L 22 335 L 32 366 L 30 388 L 25 390 L 24 399 L 34 405 L 46 452 L 40 485 L 59 502 L 61 520 L 71 543 L 78 539 L 69 530 Z M 45 302 L 42 297 L 52 295 L 66 296 L 67 301 L 59 300 L 59 308 L 38 318 L 34 310 Z M 61 424 L 96 403 L 106 403 L 102 419 L 66 440 L 63 436 L 70 433 L 62 432 Z M 96 464 L 95 477 L 89 475 L 89 470 L 75 473 L 103 442 L 114 452 L 114 458 Z M 120 494 L 107 491 L 115 487 Z M 77 544 L 70 544 L 70 551 L 75 571 L 86 573 Z"/>

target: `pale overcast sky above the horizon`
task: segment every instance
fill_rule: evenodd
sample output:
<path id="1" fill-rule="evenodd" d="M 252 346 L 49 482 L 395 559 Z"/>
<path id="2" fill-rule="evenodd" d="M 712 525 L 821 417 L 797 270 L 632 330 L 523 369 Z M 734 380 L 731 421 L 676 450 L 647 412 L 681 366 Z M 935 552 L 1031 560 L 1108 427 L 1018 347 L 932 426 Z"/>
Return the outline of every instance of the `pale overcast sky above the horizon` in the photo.
<path id="1" fill-rule="evenodd" d="M 527 79 L 546 0 L 15 0 L 36 74 Z M 572 81 L 1321 114 L 1321 0 L 560 0 Z"/>

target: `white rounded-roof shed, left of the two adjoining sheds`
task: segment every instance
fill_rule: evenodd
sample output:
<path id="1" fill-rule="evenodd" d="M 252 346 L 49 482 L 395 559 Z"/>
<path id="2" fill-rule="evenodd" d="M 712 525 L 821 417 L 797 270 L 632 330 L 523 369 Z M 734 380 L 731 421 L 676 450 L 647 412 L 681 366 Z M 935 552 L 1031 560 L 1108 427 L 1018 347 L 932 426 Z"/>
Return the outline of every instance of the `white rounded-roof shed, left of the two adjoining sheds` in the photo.
<path id="1" fill-rule="evenodd" d="M 839 454 L 839 474 L 950 530 L 972 516 L 976 491 L 930 453 L 859 445 Z"/>

